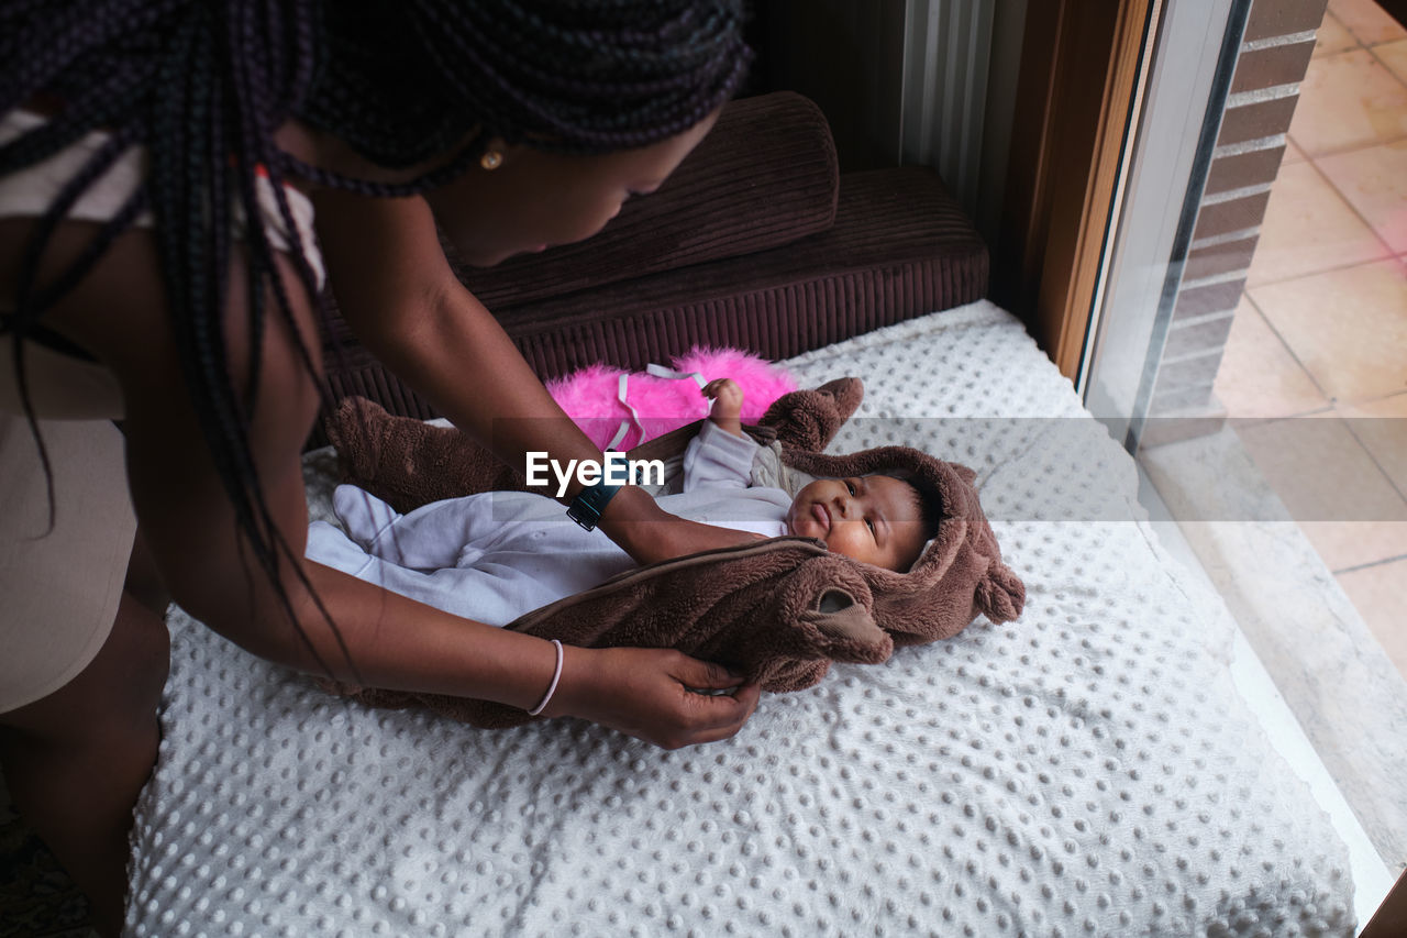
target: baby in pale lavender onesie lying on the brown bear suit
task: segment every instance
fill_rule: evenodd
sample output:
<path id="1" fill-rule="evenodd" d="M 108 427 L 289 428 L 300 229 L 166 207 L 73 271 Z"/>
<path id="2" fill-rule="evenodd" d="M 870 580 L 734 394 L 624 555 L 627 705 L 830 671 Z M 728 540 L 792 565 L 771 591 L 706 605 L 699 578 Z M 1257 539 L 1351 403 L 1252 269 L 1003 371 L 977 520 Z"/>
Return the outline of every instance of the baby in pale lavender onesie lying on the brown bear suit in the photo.
<path id="1" fill-rule="evenodd" d="M 937 531 L 936 500 L 910 482 L 801 479 L 743 434 L 734 382 L 711 382 L 704 394 L 713 401 L 709 418 L 684 455 L 682 490 L 657 497 L 666 511 L 758 537 L 819 538 L 830 551 L 899 572 Z M 338 486 L 333 507 L 346 532 L 312 523 L 310 559 L 494 625 L 635 566 L 601 531 L 582 530 L 535 493 L 487 492 L 402 515 L 362 489 Z"/>

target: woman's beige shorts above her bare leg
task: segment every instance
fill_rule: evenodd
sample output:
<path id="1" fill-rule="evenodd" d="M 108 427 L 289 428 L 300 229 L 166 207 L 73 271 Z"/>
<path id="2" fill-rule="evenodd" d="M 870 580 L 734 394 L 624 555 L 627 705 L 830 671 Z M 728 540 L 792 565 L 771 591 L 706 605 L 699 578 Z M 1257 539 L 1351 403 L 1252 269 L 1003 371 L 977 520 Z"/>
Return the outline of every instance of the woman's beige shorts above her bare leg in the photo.
<path id="1" fill-rule="evenodd" d="M 0 713 L 46 697 L 113 630 L 136 518 L 122 435 L 107 420 L 41 420 L 53 527 L 28 421 L 0 410 Z"/>

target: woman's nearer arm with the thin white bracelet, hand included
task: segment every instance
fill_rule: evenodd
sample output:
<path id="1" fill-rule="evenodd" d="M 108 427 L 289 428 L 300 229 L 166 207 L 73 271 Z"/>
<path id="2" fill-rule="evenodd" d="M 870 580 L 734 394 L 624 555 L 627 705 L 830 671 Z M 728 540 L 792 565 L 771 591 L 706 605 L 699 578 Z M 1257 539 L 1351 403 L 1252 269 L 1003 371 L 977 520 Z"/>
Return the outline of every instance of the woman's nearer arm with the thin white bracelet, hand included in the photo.
<path id="1" fill-rule="evenodd" d="M 291 269 L 281 266 L 293 283 Z M 270 321 L 249 448 L 270 534 L 283 544 L 276 576 L 290 603 L 280 600 L 255 562 L 186 393 L 162 297 L 149 277 L 156 269 L 149 235 L 124 235 L 55 315 L 122 384 L 132 500 L 173 599 L 227 638 L 290 668 L 533 707 L 556 663 L 549 642 L 449 615 L 304 559 L 308 517 L 300 449 L 318 394 L 293 330 Z M 225 328 L 238 392 L 246 390 L 239 379 L 249 361 L 242 283 L 236 261 Z M 317 356 L 312 313 L 301 292 L 291 293 L 297 330 Z M 736 732 L 757 704 L 757 689 L 702 697 L 684 684 L 734 683 L 723 669 L 675 652 L 573 648 L 546 713 L 584 717 L 658 745 L 688 745 Z"/>

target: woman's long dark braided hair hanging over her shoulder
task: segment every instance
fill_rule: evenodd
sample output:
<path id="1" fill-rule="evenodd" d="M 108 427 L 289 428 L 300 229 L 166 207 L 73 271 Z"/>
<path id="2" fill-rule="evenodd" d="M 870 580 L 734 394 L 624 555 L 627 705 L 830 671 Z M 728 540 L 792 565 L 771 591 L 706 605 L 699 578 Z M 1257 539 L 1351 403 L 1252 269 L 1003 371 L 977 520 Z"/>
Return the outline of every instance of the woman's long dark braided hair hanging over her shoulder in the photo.
<path id="1" fill-rule="evenodd" d="M 21 401 L 51 480 L 51 525 L 52 470 L 25 380 L 25 339 L 44 334 L 42 314 L 151 213 L 172 335 L 205 444 L 250 552 L 293 618 L 279 565 L 300 569 L 298 558 L 265 501 L 249 418 L 267 317 L 291 325 L 290 289 L 314 296 L 317 283 L 300 246 L 290 248 L 300 283 L 288 284 L 265 227 L 235 231 L 236 217 L 262 215 L 257 177 L 267 176 L 283 228 L 295 232 L 283 186 L 290 176 L 405 196 L 461 173 L 491 137 L 564 152 L 666 139 L 740 83 L 749 61 L 740 3 L 0 0 L 0 114 L 34 100 L 61 104 L 49 120 L 0 145 L 0 177 L 93 130 L 108 134 L 34 225 L 14 308 L 0 320 L 15 339 Z M 274 144 L 288 118 L 380 166 L 432 161 L 435 169 L 405 185 L 326 172 Z M 59 276 L 38 283 L 39 258 L 69 210 L 135 146 L 146 154 L 144 182 Z M 248 252 L 253 349 L 243 396 L 229 375 L 222 330 L 236 237 Z M 298 351 L 312 373 L 308 349 L 300 342 Z M 325 396 L 321 379 L 318 386 Z"/>

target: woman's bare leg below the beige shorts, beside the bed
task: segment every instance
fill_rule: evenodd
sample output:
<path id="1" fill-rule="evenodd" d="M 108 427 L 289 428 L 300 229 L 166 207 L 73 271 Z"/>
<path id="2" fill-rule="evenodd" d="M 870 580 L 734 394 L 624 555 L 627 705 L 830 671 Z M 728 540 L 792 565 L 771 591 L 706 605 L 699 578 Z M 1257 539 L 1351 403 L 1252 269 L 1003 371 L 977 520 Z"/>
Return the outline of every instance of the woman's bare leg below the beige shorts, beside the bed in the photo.
<path id="1" fill-rule="evenodd" d="M 156 765 L 156 706 L 170 665 L 166 623 L 124 592 L 113 631 L 77 677 L 0 714 L 0 768 L 15 807 L 91 906 L 121 928 L 127 837 Z"/>

